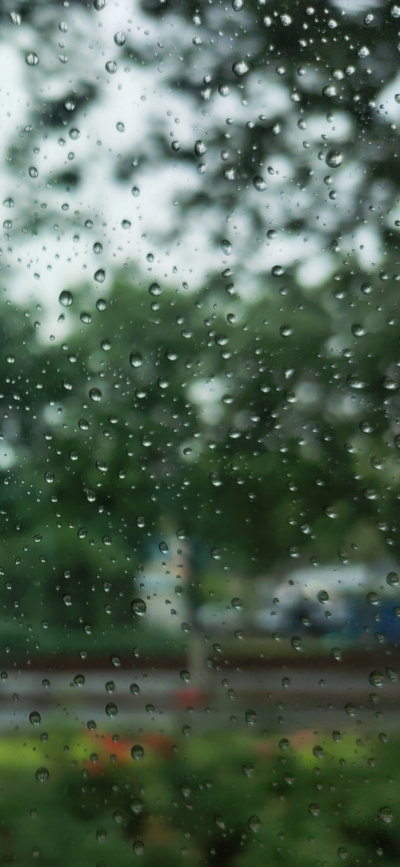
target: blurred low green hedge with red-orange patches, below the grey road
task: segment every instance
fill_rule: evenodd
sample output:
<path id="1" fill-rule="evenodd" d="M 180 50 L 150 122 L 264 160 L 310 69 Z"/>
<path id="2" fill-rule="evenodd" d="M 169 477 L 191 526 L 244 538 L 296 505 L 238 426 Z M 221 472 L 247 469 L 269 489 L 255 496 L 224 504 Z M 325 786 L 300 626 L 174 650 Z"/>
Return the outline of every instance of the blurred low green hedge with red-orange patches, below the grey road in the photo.
<path id="1" fill-rule="evenodd" d="M 145 756 L 135 762 L 132 737 L 112 742 L 82 733 L 76 740 L 53 731 L 47 745 L 32 737 L 7 742 L 2 863 L 26 863 L 38 849 L 45 865 L 73 859 L 77 867 L 122 867 L 139 857 L 132 852 L 138 840 L 144 864 L 153 865 L 398 861 L 394 742 L 383 745 L 375 734 L 355 743 L 349 734 L 335 744 L 326 734 L 315 758 L 311 732 L 303 743 L 289 739 L 288 750 L 275 738 L 244 734 L 153 735 L 144 736 Z M 39 763 L 49 769 L 46 783 L 35 779 Z"/>

